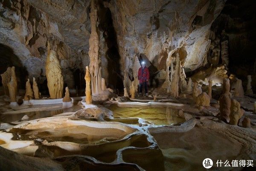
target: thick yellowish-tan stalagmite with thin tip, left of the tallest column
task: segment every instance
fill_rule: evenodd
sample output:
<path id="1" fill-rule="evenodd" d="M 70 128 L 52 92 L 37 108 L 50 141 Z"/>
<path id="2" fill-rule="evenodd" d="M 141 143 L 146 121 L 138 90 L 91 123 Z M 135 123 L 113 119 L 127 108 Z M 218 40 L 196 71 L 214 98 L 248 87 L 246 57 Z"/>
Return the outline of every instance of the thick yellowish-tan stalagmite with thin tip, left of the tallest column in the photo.
<path id="1" fill-rule="evenodd" d="M 62 98 L 63 91 L 63 77 L 61 75 L 61 66 L 58 61 L 56 52 L 54 50 L 49 50 L 48 42 L 48 55 L 46 61 L 46 77 L 47 86 L 49 89 L 49 94 L 51 99 Z"/>

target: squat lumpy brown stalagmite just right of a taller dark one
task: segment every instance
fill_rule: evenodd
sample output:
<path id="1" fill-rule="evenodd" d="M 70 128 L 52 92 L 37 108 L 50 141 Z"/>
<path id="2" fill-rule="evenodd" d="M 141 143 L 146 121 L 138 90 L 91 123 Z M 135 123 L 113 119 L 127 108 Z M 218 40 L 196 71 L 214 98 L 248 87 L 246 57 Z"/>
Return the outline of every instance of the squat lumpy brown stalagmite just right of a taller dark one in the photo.
<path id="1" fill-rule="evenodd" d="M 244 110 L 240 109 L 240 103 L 236 99 L 231 100 L 230 125 L 238 125 L 239 119 L 243 116 Z"/>

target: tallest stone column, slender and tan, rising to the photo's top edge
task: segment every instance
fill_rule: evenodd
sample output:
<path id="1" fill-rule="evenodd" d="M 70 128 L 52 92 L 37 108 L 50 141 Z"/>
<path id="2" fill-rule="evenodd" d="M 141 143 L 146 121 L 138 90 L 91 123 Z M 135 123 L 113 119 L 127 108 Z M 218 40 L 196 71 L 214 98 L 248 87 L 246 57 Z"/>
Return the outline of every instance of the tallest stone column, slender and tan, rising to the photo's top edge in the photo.
<path id="1" fill-rule="evenodd" d="M 90 74 L 92 78 L 92 93 L 99 94 L 102 92 L 101 85 L 101 59 L 99 57 L 99 35 L 98 35 L 98 14 L 95 0 L 92 0 L 90 9 L 91 34 L 89 39 L 89 58 Z"/>

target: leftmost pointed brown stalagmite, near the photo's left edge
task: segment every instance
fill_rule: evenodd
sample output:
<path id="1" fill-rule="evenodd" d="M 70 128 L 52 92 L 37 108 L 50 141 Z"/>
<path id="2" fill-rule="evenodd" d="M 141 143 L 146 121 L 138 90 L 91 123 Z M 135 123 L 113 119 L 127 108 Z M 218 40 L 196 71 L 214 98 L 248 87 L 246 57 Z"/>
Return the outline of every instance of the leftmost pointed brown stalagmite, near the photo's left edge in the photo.
<path id="1" fill-rule="evenodd" d="M 11 68 L 11 80 L 7 83 L 7 86 L 9 89 L 11 102 L 16 102 L 17 78 L 15 75 L 15 67 Z"/>

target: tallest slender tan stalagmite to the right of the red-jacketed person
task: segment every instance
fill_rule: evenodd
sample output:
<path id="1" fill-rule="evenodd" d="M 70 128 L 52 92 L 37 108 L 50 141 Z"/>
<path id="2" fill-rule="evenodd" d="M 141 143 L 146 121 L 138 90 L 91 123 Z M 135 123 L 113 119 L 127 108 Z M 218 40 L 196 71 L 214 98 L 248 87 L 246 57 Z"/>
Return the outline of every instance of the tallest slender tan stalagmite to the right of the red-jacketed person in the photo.
<path id="1" fill-rule="evenodd" d="M 180 78 L 180 58 L 176 57 L 175 72 L 172 78 L 171 93 L 172 96 L 177 98 L 179 96 L 179 78 Z"/>

